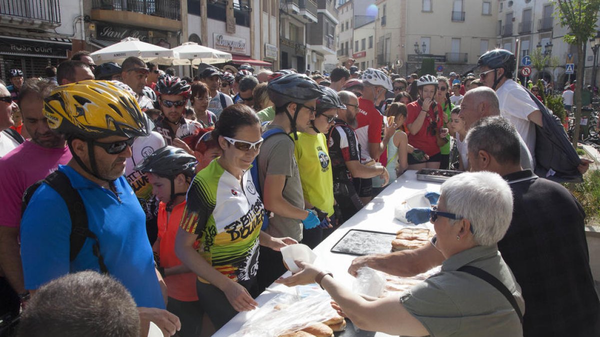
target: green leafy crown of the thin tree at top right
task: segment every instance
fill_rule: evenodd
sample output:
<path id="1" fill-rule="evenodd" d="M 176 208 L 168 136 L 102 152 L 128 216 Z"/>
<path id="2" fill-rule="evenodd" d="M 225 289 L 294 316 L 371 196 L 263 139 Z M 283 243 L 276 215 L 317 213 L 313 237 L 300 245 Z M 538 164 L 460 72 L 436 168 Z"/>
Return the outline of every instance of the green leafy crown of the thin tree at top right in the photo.
<path id="1" fill-rule="evenodd" d="M 560 25 L 569 27 L 566 43 L 583 44 L 596 34 L 600 0 L 554 0 Z"/>

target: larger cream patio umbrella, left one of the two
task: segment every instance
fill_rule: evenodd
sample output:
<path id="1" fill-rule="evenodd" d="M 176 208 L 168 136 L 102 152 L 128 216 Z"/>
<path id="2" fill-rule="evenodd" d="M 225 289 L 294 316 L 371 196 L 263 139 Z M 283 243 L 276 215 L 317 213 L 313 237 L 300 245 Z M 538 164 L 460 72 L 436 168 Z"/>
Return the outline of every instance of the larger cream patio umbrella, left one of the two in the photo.
<path id="1" fill-rule="evenodd" d="M 173 50 L 128 37 L 119 43 L 97 50 L 90 55 L 96 64 L 104 62 L 121 63 L 130 56 L 136 56 L 144 62 L 157 62 L 170 65 L 173 62 Z"/>

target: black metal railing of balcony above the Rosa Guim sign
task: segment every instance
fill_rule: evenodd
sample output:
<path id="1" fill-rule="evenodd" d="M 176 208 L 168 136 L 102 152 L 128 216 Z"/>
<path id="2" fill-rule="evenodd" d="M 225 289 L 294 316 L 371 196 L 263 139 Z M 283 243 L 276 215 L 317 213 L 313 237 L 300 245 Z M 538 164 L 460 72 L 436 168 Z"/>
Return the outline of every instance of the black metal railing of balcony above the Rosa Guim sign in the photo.
<path id="1" fill-rule="evenodd" d="M 60 0 L 3 0 L 0 2 L 0 14 L 61 23 L 61 2 Z"/>

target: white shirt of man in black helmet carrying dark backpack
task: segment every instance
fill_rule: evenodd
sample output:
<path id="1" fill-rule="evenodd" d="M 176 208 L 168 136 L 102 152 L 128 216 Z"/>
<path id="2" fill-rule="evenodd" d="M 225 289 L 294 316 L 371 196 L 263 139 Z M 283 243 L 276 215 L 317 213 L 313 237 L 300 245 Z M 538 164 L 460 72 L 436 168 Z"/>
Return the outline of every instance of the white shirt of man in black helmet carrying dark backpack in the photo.
<path id="1" fill-rule="evenodd" d="M 527 89 L 513 80 L 506 80 L 496 91 L 500 103 L 500 116 L 508 119 L 524 140 L 532 158 L 535 158 L 535 125 L 527 116 L 539 110 L 529 97 Z"/>

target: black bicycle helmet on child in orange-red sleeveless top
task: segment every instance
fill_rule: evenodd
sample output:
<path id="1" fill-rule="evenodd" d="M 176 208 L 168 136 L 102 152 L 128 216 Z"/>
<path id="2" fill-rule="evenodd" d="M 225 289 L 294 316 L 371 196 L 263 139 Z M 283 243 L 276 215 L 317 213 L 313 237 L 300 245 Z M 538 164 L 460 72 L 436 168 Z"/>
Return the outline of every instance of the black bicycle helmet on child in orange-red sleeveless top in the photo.
<path id="1" fill-rule="evenodd" d="M 173 209 L 175 198 L 179 195 L 185 195 L 185 192 L 175 193 L 175 177 L 183 173 L 185 176 L 193 178 L 197 163 L 196 157 L 188 154 L 184 149 L 165 146 L 144 158 L 142 163 L 137 164 L 134 170 L 154 173 L 171 181 L 171 195 L 167 203 L 167 212 L 170 212 Z"/>

